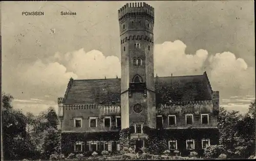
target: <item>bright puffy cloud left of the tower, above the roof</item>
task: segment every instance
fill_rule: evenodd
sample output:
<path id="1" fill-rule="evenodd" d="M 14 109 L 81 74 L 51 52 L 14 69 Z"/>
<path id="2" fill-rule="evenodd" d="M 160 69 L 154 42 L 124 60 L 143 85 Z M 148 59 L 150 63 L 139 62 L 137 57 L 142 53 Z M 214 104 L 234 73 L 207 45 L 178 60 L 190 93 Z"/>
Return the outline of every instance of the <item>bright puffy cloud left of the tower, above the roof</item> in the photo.
<path id="1" fill-rule="evenodd" d="M 79 79 L 115 78 L 121 76 L 121 63 L 115 56 L 105 57 L 98 50 L 85 52 L 83 48 L 65 53 L 55 54 L 55 59 L 78 75 Z"/>

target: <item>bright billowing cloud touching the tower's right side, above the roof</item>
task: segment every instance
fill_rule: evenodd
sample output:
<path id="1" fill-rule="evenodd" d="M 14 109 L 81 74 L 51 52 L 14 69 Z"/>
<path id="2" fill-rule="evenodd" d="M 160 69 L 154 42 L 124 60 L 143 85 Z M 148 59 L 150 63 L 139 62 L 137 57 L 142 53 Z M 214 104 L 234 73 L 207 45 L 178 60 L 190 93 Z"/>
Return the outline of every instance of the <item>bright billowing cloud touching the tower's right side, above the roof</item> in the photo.
<path id="1" fill-rule="evenodd" d="M 154 49 L 155 74 L 158 76 L 202 74 L 208 57 L 204 49 L 197 50 L 195 55 L 187 55 L 186 45 L 180 40 L 156 44 Z"/>

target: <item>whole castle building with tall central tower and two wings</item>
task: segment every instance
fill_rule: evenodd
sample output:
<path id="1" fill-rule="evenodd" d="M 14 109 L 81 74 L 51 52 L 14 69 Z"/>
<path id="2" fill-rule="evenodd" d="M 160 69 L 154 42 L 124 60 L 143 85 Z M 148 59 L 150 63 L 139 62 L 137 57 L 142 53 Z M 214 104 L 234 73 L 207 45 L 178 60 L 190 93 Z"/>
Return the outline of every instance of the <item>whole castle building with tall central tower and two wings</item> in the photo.
<path id="1" fill-rule="evenodd" d="M 218 144 L 219 91 L 202 75 L 154 77 L 154 8 L 130 3 L 118 10 L 121 78 L 70 79 L 58 98 L 62 151 L 118 151 L 121 129 L 129 145 L 146 147 L 150 133 L 181 152 Z M 182 63 L 182 62 L 181 62 Z"/>

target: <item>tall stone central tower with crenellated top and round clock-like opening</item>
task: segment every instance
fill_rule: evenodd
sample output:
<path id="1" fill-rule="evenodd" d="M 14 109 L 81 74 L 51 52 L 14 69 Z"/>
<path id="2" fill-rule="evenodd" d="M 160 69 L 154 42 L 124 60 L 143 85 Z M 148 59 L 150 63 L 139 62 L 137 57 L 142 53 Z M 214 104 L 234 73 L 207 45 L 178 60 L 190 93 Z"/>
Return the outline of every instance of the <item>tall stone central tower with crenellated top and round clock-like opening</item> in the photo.
<path id="1" fill-rule="evenodd" d="M 154 8 L 130 3 L 118 10 L 121 43 L 121 127 L 156 127 Z"/>

